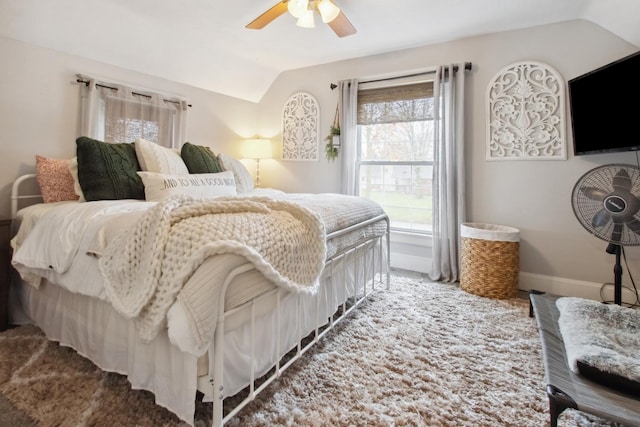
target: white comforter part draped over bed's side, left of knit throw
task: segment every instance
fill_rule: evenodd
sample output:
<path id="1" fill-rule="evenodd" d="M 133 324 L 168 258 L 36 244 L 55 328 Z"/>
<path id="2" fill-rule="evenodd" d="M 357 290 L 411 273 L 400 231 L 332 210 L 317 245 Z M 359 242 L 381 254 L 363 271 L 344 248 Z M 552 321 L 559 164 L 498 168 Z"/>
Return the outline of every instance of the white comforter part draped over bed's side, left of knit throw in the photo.
<path id="1" fill-rule="evenodd" d="M 46 279 L 71 292 L 105 299 L 97 258 L 109 239 L 154 205 L 104 200 L 26 207 L 14 219 L 20 227 L 11 240 L 11 263 L 36 288 Z"/>

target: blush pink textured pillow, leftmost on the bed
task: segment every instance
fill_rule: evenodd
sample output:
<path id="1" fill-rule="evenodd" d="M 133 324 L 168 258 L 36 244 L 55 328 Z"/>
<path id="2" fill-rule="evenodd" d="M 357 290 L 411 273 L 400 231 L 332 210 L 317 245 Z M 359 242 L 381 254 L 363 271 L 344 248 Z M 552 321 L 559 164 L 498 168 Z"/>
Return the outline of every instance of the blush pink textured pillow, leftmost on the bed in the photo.
<path id="1" fill-rule="evenodd" d="M 36 179 L 45 203 L 78 200 L 69 171 L 70 160 L 36 155 Z"/>

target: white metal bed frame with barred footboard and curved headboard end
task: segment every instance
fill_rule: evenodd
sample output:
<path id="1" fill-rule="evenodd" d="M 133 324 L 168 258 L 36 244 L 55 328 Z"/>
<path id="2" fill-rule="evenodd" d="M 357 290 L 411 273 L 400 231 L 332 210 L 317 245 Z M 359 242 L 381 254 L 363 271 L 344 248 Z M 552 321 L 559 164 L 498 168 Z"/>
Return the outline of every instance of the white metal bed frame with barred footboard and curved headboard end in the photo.
<path id="1" fill-rule="evenodd" d="M 12 186 L 11 191 L 11 217 L 14 218 L 18 209 L 20 208 L 23 202 L 26 204 L 34 203 L 36 200 L 41 200 L 42 196 L 40 194 L 20 194 L 20 187 L 27 181 L 35 181 L 35 174 L 27 174 L 22 175 L 17 178 Z M 262 392 L 267 386 L 269 386 L 274 380 L 276 380 L 280 375 L 291 366 L 296 360 L 298 360 L 304 353 L 306 353 L 311 347 L 313 347 L 318 341 L 323 338 L 329 331 L 333 329 L 335 325 L 337 325 L 341 320 L 343 320 L 346 316 L 348 316 L 356 307 L 360 306 L 371 293 L 375 292 L 376 289 L 376 276 L 378 276 L 378 283 L 385 284 L 385 288 L 388 290 L 390 287 L 390 229 L 389 229 L 389 218 L 387 215 L 379 215 L 374 218 L 371 218 L 365 222 L 355 224 L 351 227 L 335 231 L 327 235 L 327 241 L 340 237 L 342 235 L 348 234 L 354 230 L 359 228 L 367 227 L 369 225 L 378 223 L 383 221 L 385 223 L 385 232 L 384 235 L 368 238 L 364 241 L 358 242 L 351 247 L 346 248 L 340 253 L 333 256 L 331 259 L 328 259 L 325 263 L 325 268 L 323 270 L 323 274 L 329 269 L 329 273 L 331 276 L 331 280 L 335 280 L 336 271 L 339 269 L 339 265 L 342 263 L 342 268 L 340 269 L 342 272 L 341 278 L 341 290 L 344 291 L 344 295 L 347 295 L 347 280 L 346 274 L 347 269 L 345 268 L 345 262 L 351 258 L 353 262 L 353 293 L 349 298 L 345 298 L 345 301 L 339 307 L 336 307 L 336 312 L 332 314 L 323 326 L 321 325 L 321 320 L 316 318 L 315 328 L 311 333 L 312 338 L 303 344 L 303 339 L 310 337 L 310 335 L 302 336 L 302 327 L 301 327 L 301 319 L 302 319 L 302 308 L 301 308 L 301 296 L 297 296 L 297 320 L 296 320 L 296 333 L 297 333 L 297 345 L 293 349 L 290 349 L 288 353 L 286 353 L 288 360 L 284 361 L 284 358 L 276 360 L 275 365 L 271 368 L 267 375 L 262 376 L 261 378 L 256 378 L 256 373 L 254 370 L 253 360 L 255 359 L 255 322 L 256 322 L 256 304 L 262 298 L 274 298 L 276 299 L 276 324 L 280 324 L 280 303 L 281 299 L 284 295 L 287 294 L 286 290 L 281 288 L 271 289 L 257 297 L 254 297 L 250 301 L 235 307 L 231 310 L 225 311 L 224 302 L 227 288 L 231 284 L 231 282 L 242 273 L 248 272 L 254 269 L 253 265 L 250 263 L 243 264 L 239 267 L 236 267 L 225 279 L 221 289 L 221 298 L 219 299 L 219 310 L 218 310 L 218 319 L 215 329 L 215 336 L 213 341 L 213 355 L 210 357 L 209 366 L 209 375 L 208 375 L 208 385 L 201 385 L 200 381 L 198 384 L 199 389 L 206 388 L 207 386 L 211 390 L 211 396 L 213 397 L 213 409 L 212 409 L 212 425 L 213 426 L 223 426 L 226 422 L 228 422 L 231 418 L 237 415 L 240 410 L 242 410 L 245 406 L 247 406 L 251 401 L 255 399 L 255 397 Z M 383 244 L 383 240 L 385 240 L 386 244 Z M 374 249 L 371 249 L 371 246 Z M 367 253 L 368 251 L 372 251 L 372 257 L 370 259 L 370 270 L 367 270 Z M 386 251 L 386 252 L 385 252 Z M 376 253 L 377 252 L 377 253 Z M 377 262 L 376 262 L 377 256 Z M 338 266 L 338 267 L 337 267 Z M 386 273 L 386 278 L 383 278 L 383 275 Z M 361 289 L 362 293 L 358 294 L 358 290 Z M 349 304 L 347 305 L 347 302 Z M 316 299 L 316 305 L 319 305 L 319 299 Z M 247 386 L 246 394 L 247 396 L 240 401 L 235 407 L 228 410 L 228 413 L 224 414 L 224 400 L 226 397 L 224 396 L 224 388 L 223 388 L 223 378 L 224 378 L 224 334 L 225 334 L 225 321 L 228 317 L 233 314 L 241 311 L 241 310 L 250 310 L 251 312 L 251 372 L 250 372 L 250 382 Z M 316 313 L 319 310 L 316 310 Z M 276 329 L 276 354 L 280 355 L 280 328 Z M 295 350 L 295 352 L 294 352 Z M 278 359 L 278 357 L 276 357 Z M 281 364 L 282 363 L 282 364 Z M 213 373 L 213 375 L 212 375 Z M 258 380 L 260 381 L 259 385 L 257 385 Z M 256 386 L 257 385 L 257 386 Z"/>

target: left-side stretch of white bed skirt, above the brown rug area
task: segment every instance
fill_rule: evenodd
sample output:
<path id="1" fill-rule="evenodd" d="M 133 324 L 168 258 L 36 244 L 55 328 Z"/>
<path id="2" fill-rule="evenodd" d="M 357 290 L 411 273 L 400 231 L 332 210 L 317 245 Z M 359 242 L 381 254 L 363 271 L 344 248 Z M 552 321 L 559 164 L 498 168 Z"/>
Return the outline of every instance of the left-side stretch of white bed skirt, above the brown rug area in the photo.
<path id="1" fill-rule="evenodd" d="M 151 391 L 158 405 L 193 423 L 197 357 L 173 346 L 166 333 L 145 344 L 135 324 L 108 303 L 48 282 L 40 289 L 21 283 L 13 291 L 24 316 L 49 339 L 73 348 L 104 371 L 127 375 L 132 388 Z M 18 316 L 14 313 L 12 320 L 19 321 Z"/>

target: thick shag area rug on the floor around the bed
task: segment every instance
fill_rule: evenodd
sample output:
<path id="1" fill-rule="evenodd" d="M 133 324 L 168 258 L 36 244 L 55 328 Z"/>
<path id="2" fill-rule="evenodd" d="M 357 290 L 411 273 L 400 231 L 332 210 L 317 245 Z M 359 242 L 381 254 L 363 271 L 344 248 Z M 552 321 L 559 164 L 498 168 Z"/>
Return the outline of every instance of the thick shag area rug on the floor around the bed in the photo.
<path id="1" fill-rule="evenodd" d="M 540 339 L 523 299 L 394 272 L 230 426 L 548 426 Z M 0 423 L 182 426 L 33 326 L 0 333 Z M 196 425 L 210 422 L 198 403 Z M 567 410 L 560 426 L 610 426 Z"/>

